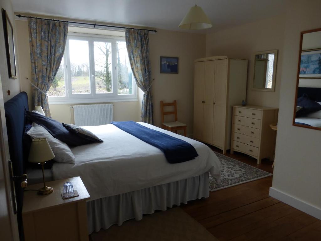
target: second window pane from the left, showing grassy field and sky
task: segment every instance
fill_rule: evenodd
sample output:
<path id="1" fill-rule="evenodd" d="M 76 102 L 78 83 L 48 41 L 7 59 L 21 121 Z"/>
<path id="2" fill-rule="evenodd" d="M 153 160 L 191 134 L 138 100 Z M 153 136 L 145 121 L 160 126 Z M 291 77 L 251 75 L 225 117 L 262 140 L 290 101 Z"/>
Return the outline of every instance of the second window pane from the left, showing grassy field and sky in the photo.
<path id="1" fill-rule="evenodd" d="M 90 94 L 88 41 L 69 40 L 72 94 Z"/>

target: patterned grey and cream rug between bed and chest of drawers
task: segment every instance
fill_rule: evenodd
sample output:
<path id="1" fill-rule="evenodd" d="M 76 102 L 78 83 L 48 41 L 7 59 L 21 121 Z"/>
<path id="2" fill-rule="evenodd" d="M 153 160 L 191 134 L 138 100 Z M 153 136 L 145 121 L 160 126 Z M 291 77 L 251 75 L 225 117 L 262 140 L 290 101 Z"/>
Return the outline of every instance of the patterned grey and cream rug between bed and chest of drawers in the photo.
<path id="1" fill-rule="evenodd" d="M 211 192 L 272 176 L 271 173 L 247 165 L 228 156 L 224 156 L 217 152 L 215 152 L 215 154 L 221 161 L 221 183 L 216 183 L 210 174 L 209 184 Z"/>

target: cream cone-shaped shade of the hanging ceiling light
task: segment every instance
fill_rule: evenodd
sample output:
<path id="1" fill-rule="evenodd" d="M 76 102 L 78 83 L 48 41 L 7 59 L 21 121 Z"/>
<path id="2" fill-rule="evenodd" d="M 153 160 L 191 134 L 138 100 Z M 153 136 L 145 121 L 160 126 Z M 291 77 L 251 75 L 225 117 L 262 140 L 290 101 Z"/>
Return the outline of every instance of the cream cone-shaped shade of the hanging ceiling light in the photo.
<path id="1" fill-rule="evenodd" d="M 178 27 L 181 29 L 208 29 L 213 25 L 203 9 L 195 4 L 183 18 Z"/>

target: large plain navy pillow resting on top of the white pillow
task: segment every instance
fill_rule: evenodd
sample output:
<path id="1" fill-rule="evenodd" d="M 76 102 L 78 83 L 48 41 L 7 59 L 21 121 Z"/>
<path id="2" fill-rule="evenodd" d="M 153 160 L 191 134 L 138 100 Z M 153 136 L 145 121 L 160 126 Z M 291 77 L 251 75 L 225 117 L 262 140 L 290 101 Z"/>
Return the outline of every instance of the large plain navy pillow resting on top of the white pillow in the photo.
<path id="1" fill-rule="evenodd" d="M 59 121 L 53 120 L 47 116 L 40 115 L 35 112 L 26 111 L 26 119 L 42 126 L 56 139 L 65 142 L 68 146 L 81 146 L 91 143 L 86 138 L 69 132 Z"/>

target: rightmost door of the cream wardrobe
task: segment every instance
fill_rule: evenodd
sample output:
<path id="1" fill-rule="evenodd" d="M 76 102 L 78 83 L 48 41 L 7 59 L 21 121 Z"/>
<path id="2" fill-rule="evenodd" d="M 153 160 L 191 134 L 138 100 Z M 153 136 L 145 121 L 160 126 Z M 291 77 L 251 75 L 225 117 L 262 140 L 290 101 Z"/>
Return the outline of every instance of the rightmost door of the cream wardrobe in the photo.
<path id="1" fill-rule="evenodd" d="M 224 148 L 227 104 L 227 59 L 215 60 L 213 145 Z"/>

